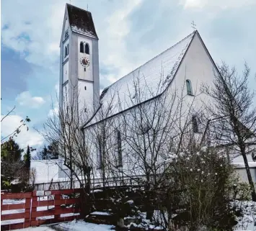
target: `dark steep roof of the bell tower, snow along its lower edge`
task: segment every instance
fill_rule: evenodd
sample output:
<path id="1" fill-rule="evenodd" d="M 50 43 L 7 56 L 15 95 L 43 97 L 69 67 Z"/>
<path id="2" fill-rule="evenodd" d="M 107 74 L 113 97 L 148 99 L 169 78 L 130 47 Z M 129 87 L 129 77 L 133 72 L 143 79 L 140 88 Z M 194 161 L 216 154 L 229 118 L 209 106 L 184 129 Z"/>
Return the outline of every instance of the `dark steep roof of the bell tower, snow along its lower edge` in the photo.
<path id="1" fill-rule="evenodd" d="M 81 35 L 87 35 L 98 39 L 91 12 L 87 12 L 84 9 L 72 6 L 71 4 L 66 5 L 71 30 Z"/>

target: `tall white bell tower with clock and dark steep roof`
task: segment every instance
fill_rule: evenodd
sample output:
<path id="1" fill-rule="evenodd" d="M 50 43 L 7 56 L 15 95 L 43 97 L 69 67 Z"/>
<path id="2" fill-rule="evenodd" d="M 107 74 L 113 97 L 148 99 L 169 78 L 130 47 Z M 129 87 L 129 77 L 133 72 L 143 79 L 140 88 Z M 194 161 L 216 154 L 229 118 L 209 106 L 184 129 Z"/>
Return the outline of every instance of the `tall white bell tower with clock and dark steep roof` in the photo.
<path id="1" fill-rule="evenodd" d="M 100 103 L 99 48 L 92 14 L 66 4 L 61 34 L 59 102 L 92 113 Z M 65 107 L 66 107 L 65 106 Z"/>

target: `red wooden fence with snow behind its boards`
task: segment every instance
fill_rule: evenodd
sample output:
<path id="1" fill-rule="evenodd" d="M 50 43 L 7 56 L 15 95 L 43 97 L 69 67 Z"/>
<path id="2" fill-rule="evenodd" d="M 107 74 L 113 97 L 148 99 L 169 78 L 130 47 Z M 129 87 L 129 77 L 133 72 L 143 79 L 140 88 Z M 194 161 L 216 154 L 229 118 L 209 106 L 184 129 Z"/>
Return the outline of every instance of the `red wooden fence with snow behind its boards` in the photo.
<path id="1" fill-rule="evenodd" d="M 82 204 L 84 204 L 83 195 L 82 189 L 1 194 L 1 230 L 15 230 L 79 219 L 83 213 L 81 211 L 83 208 Z M 22 200 L 19 201 L 20 199 Z M 21 203 L 13 204 L 17 202 Z M 19 210 L 8 211 L 12 209 L 22 209 L 22 212 Z M 13 219 L 24 219 L 24 221 L 16 221 L 16 224 L 8 225 L 3 222 Z"/>

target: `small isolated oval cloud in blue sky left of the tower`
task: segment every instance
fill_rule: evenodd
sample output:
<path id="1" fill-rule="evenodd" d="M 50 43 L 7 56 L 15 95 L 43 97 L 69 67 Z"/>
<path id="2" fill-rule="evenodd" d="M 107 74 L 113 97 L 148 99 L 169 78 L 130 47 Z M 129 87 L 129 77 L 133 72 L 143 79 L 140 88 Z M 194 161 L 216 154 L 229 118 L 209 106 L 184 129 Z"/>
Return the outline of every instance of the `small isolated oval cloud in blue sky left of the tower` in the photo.
<path id="1" fill-rule="evenodd" d="M 23 91 L 16 98 L 20 106 L 38 108 L 45 103 L 45 100 L 39 96 L 31 96 L 29 91 Z"/>

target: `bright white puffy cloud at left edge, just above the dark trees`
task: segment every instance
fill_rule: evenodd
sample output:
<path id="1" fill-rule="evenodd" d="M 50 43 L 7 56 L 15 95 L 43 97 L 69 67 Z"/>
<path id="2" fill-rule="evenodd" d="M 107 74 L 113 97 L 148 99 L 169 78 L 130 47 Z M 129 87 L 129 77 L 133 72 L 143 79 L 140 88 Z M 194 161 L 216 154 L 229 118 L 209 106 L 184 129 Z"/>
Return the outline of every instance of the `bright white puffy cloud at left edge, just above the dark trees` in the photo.
<path id="1" fill-rule="evenodd" d="M 1 116 L 1 118 L 2 117 L 3 116 Z M 20 121 L 22 119 L 23 118 L 19 115 L 10 115 L 6 117 L 1 122 L 1 137 L 6 137 L 14 132 L 14 130 L 21 124 Z M 27 125 L 30 127 L 30 124 Z M 32 130 L 32 128 L 27 131 L 27 127 L 25 126 L 21 127 L 21 132 L 14 138 L 14 140 L 19 144 L 20 148 L 26 148 L 27 145 L 30 145 L 33 148 L 43 145 L 43 137 L 35 130 Z"/>

